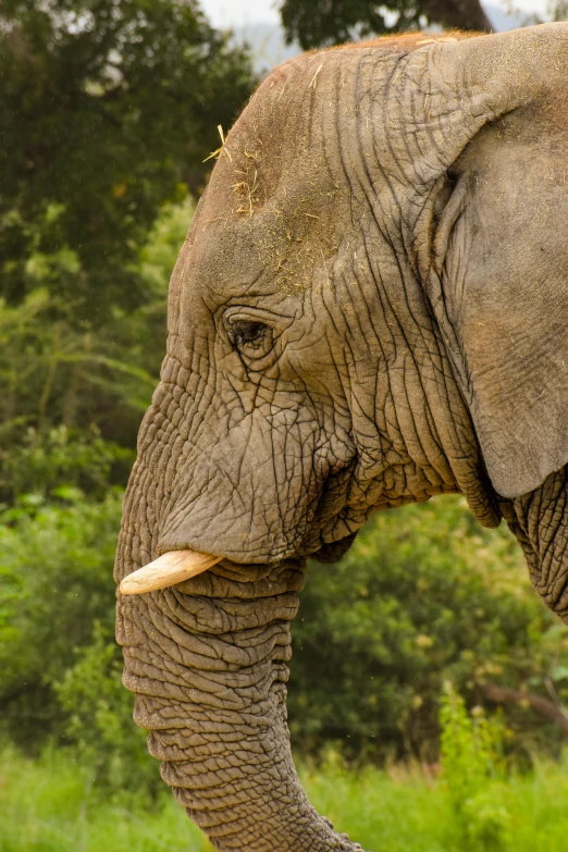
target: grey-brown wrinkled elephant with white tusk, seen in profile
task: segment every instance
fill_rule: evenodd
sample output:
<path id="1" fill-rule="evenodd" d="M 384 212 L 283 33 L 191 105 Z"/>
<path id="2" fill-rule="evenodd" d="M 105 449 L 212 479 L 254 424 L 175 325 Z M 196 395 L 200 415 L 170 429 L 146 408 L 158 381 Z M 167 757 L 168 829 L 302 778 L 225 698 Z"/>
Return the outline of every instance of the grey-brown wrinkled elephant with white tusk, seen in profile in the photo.
<path id="1" fill-rule="evenodd" d="M 568 620 L 567 84 L 567 24 L 392 37 L 287 62 L 222 137 L 115 566 L 135 721 L 222 852 L 360 849 L 286 680 L 307 558 L 371 513 L 462 494 Z"/>

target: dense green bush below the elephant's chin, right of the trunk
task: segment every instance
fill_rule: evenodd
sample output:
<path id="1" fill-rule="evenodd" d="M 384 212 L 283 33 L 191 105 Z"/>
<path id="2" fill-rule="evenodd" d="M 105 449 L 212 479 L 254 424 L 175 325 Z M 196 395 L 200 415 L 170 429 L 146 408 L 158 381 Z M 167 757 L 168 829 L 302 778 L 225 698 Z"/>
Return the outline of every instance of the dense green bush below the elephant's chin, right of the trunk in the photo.
<path id="1" fill-rule="evenodd" d="M 310 565 L 293 626 L 289 726 L 305 752 L 437 760 L 450 680 L 487 705 L 486 681 L 566 696 L 568 631 L 530 588 L 518 544 L 460 497 L 379 513 L 339 565 Z M 487 705 L 489 706 L 489 705 Z M 558 748 L 559 731 L 507 707 L 508 748 Z"/>

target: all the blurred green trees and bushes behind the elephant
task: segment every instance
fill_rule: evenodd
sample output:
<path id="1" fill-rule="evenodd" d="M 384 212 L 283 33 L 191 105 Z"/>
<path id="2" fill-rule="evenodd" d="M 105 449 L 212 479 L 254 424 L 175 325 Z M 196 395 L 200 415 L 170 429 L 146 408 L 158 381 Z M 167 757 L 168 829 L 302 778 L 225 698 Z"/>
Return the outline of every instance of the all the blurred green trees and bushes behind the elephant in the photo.
<path id="1" fill-rule="evenodd" d="M 286 0 L 288 37 L 311 47 L 444 24 L 452 3 L 393 0 L 382 24 L 368 14 L 375 4 L 328 5 Z M 565 4 L 548 13 L 566 15 Z M 158 807 L 159 773 L 120 682 L 113 553 L 164 351 L 168 280 L 217 127 L 231 125 L 257 75 L 247 48 L 213 29 L 193 0 L 0 0 L 0 42 L 4 765 L 15 798 L 45 770 L 61 780 L 60 810 L 67 795 L 81 811 L 85 785 L 113 807 L 131 799 Z M 506 530 L 481 529 L 457 496 L 379 515 L 341 565 L 310 566 L 293 637 L 289 726 L 326 812 L 322 779 L 343 785 L 346 802 L 362 795 L 345 766 L 363 780 L 371 769 L 362 767 L 403 763 L 435 778 L 443 731 L 447 773 L 460 779 L 457 799 L 440 803 L 462 822 L 456 848 L 513 842 L 507 808 L 486 802 L 476 813 L 485 807 L 489 834 L 464 840 L 465 803 L 477 795 L 464 779 L 498 785 L 505 769 L 559 758 L 568 631 L 533 594 Z M 566 786 L 560 765 L 554 773 Z M 385 778 L 373 778 L 388 802 Z M 12 817 L 22 825 L 17 808 Z M 124 832 L 116 849 L 131 842 Z M 0 849 L 23 849 L 21 837 L 4 826 Z M 69 837 L 70 850 L 87 848 Z M 29 848 L 67 848 L 57 842 Z"/>

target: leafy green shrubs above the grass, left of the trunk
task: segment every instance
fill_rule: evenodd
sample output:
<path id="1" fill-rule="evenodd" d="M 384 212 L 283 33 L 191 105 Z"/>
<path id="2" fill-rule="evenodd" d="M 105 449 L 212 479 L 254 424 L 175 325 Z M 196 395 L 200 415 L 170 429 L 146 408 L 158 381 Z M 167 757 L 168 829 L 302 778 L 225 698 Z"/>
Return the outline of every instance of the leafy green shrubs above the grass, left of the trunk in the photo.
<path id="1" fill-rule="evenodd" d="M 132 720 L 114 642 L 112 566 L 122 492 L 27 495 L 0 527 L 0 730 L 27 752 L 71 749 L 107 797 L 153 800 L 160 783 Z"/>

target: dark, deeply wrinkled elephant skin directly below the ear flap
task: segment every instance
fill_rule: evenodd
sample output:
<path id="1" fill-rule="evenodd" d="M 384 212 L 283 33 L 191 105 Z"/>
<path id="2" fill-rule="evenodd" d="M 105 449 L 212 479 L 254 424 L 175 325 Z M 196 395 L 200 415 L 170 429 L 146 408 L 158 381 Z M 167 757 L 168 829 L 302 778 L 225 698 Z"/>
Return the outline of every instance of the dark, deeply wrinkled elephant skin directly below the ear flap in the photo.
<path id="1" fill-rule="evenodd" d="M 521 545 L 534 589 L 568 623 L 568 466 L 502 506 Z"/>

